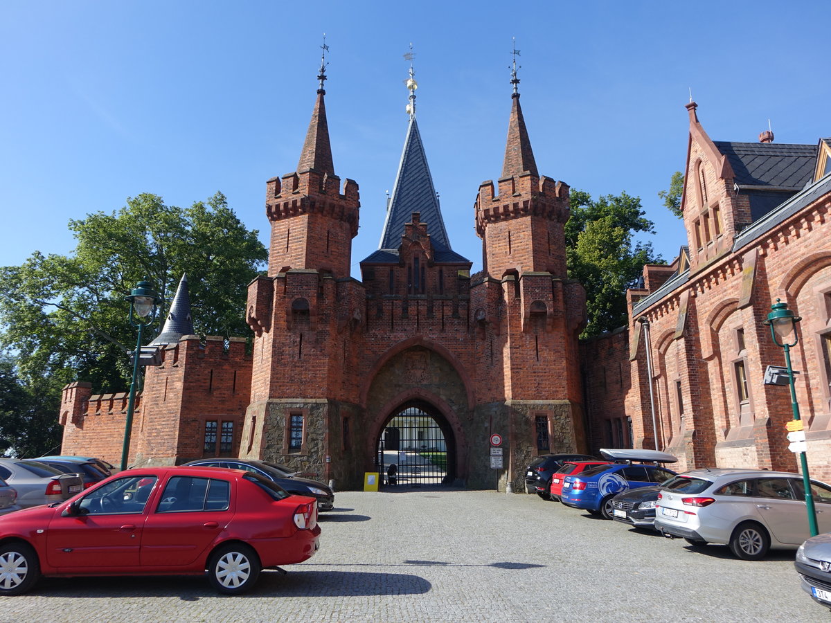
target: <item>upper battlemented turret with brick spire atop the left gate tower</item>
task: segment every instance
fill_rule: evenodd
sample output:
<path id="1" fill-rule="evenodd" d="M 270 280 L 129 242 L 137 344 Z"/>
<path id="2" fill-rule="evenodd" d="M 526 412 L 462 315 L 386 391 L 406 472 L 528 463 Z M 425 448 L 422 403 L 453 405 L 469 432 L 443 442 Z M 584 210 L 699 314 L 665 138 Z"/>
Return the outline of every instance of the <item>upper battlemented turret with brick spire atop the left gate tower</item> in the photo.
<path id="1" fill-rule="evenodd" d="M 331 272 L 335 277 L 349 277 L 351 270 L 361 201 L 358 185 L 346 179 L 341 187 L 332 164 L 323 89 L 329 50 L 325 35 L 322 50 L 317 99 L 297 170 L 266 184 L 270 277 L 289 268 Z"/>

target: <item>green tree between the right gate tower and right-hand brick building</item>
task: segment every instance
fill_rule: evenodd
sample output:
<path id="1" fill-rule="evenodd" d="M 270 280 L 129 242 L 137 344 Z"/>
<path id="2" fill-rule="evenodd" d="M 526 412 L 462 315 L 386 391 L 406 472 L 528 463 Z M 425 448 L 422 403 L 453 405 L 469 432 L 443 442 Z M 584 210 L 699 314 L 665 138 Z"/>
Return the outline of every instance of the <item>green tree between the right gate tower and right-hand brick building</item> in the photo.
<path id="1" fill-rule="evenodd" d="M 627 288 L 637 285 L 644 264 L 663 262 L 651 243 L 635 243 L 633 233 L 654 233 L 641 199 L 624 192 L 593 200 L 585 191 L 572 191 L 566 254 L 568 276 L 586 289 L 588 324 L 583 337 L 626 325 Z"/>

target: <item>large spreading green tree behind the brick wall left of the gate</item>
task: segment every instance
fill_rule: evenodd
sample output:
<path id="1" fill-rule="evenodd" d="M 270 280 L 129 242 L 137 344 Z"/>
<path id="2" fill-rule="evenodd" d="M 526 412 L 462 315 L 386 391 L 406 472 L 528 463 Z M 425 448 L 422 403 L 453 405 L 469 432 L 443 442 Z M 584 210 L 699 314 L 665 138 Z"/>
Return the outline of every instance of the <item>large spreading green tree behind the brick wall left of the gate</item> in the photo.
<path id="1" fill-rule="evenodd" d="M 135 346 L 124 297 L 144 278 L 164 299 L 148 341 L 185 272 L 195 331 L 248 331 L 246 287 L 268 253 L 222 194 L 189 208 L 140 194 L 116 212 L 72 220 L 69 228 L 77 241 L 71 255 L 34 253 L 22 266 L 0 268 L 7 286 L 0 346 L 15 353 L 25 383 L 47 380 L 54 392 L 88 380 L 96 390 L 124 390 L 131 372 L 126 353 Z"/>

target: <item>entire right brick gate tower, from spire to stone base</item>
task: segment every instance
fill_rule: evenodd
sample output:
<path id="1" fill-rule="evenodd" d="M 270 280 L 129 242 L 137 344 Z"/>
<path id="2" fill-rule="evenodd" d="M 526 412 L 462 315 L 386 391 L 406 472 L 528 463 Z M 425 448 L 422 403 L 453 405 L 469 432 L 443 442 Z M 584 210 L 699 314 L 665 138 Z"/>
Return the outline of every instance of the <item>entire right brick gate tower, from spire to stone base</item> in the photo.
<path id="1" fill-rule="evenodd" d="M 481 184 L 475 201 L 484 275 L 471 296 L 479 410 L 502 422 L 516 473 L 529 451 L 585 449 L 578 334 L 586 312 L 583 287 L 566 273 L 568 185 L 538 174 L 515 61 L 512 76 L 502 177 L 496 189 Z"/>

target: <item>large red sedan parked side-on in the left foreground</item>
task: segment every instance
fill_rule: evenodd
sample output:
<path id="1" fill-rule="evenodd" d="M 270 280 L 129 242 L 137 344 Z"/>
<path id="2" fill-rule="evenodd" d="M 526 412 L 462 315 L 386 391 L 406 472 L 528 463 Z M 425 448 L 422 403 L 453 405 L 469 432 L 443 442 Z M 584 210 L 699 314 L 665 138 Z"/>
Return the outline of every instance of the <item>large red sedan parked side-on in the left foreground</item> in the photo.
<path id="1" fill-rule="evenodd" d="M 203 575 L 248 590 L 317 551 L 317 501 L 237 469 L 130 469 L 55 506 L 0 517 L 0 596 L 40 576 Z"/>

